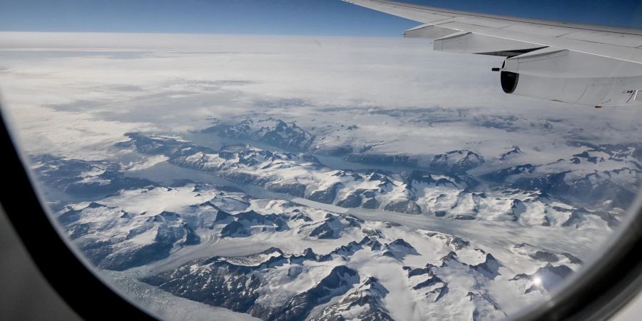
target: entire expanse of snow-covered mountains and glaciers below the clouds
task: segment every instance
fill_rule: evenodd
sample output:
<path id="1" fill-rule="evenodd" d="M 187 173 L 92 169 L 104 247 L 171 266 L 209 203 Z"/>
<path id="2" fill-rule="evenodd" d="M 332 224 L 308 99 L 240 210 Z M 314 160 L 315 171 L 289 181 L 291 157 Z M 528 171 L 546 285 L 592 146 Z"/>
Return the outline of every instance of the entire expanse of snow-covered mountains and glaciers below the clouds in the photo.
<path id="1" fill-rule="evenodd" d="M 224 141 L 127 133 L 115 147 L 151 165 L 44 155 L 34 170 L 70 195 L 56 218 L 97 267 L 263 320 L 506 317 L 584 264 L 641 170 L 635 144 L 519 163 L 518 146 L 386 156 L 340 140 L 350 152 L 330 153 L 323 131 L 275 118 L 199 135 Z M 162 163 L 205 181 L 138 174 Z"/>

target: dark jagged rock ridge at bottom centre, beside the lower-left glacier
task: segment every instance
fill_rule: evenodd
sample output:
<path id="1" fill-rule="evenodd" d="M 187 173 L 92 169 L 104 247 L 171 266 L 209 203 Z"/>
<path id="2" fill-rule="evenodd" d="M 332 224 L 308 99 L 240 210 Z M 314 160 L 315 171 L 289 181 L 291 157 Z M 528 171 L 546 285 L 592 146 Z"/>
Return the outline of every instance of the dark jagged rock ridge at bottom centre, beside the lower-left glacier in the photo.
<path id="1" fill-rule="evenodd" d="M 307 255 L 310 256 L 310 253 Z M 330 301 L 332 297 L 343 295 L 360 280 L 355 270 L 339 265 L 309 290 L 287 297 L 280 305 L 261 305 L 258 301 L 260 290 L 267 283 L 260 275 L 282 260 L 285 260 L 282 253 L 260 265 L 239 265 L 215 257 L 196 260 L 141 281 L 179 297 L 249 313 L 263 320 L 303 320 L 312 308 Z"/>

